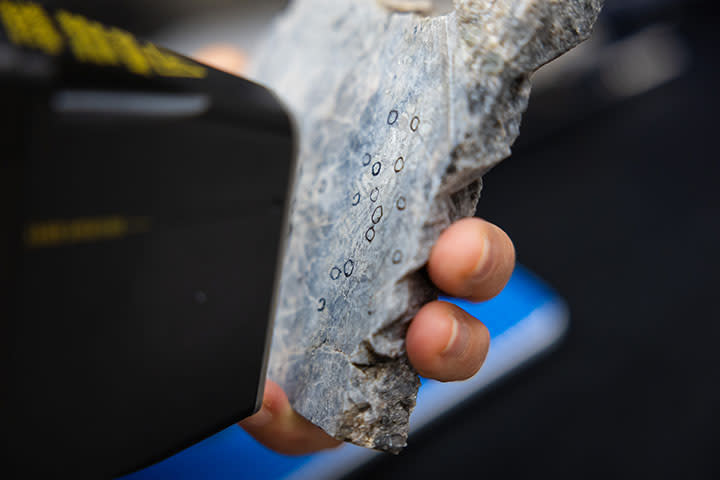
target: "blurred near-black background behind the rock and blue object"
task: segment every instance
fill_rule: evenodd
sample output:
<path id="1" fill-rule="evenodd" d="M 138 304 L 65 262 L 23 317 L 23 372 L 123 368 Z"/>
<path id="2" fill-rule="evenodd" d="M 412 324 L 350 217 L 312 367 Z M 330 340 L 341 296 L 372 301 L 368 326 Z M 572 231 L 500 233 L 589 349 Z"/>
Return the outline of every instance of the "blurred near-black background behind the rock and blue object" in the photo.
<path id="1" fill-rule="evenodd" d="M 162 38 L 253 2 L 43 3 Z M 479 214 L 568 299 L 569 335 L 356 478 L 720 478 L 718 29 L 712 0 L 608 0 L 539 75 Z"/>

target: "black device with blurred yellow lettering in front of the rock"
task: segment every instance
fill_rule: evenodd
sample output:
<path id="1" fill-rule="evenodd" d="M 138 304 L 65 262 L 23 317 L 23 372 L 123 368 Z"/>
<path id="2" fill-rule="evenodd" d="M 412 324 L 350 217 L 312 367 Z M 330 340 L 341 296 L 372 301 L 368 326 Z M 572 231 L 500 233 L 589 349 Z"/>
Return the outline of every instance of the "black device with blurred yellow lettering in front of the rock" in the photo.
<path id="1" fill-rule="evenodd" d="M 0 0 L 0 128 L 3 476 L 129 473 L 254 413 L 294 157 L 275 97 Z"/>

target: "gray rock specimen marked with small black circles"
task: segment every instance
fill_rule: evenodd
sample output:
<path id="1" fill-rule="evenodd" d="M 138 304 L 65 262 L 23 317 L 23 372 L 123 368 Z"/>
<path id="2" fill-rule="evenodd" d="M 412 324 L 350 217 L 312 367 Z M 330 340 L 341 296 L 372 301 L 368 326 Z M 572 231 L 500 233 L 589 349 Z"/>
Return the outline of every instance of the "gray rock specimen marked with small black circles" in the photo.
<path id="1" fill-rule="evenodd" d="M 510 155 L 531 73 L 590 35 L 602 0 L 429 3 L 296 0 L 255 72 L 300 133 L 270 378 L 333 437 L 390 452 L 419 386 L 404 336 L 436 295 L 430 249 Z"/>

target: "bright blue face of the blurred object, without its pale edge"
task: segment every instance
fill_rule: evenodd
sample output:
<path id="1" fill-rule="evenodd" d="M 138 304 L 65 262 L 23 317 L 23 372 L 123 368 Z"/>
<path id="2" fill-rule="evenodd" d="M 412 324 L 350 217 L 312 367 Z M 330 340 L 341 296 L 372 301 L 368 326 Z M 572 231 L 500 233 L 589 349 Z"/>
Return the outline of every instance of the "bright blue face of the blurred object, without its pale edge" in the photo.
<path id="1" fill-rule="evenodd" d="M 503 293 L 494 300 L 481 304 L 451 301 L 485 323 L 490 335 L 497 338 L 554 298 L 556 294 L 551 289 L 532 273 L 518 267 Z M 233 426 L 164 462 L 129 475 L 125 480 L 280 479 L 312 458 L 276 454 L 255 442 L 240 427 Z"/>

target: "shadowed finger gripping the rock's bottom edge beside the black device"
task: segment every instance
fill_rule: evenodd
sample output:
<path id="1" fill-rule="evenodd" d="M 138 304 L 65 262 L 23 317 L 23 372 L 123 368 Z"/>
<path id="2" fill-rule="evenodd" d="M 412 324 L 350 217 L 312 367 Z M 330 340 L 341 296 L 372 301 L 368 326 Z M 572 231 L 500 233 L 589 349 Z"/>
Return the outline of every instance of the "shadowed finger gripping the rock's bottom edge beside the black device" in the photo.
<path id="1" fill-rule="evenodd" d="M 271 380 L 265 385 L 260 411 L 239 425 L 258 442 L 285 455 L 306 455 L 341 444 L 298 415 L 285 392 Z"/>

